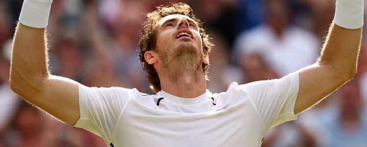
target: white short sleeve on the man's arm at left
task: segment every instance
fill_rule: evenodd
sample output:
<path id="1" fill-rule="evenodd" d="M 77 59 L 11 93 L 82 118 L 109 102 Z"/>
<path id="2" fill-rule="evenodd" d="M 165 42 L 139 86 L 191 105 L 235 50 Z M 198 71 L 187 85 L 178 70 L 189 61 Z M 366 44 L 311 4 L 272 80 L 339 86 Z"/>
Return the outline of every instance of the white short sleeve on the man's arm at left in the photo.
<path id="1" fill-rule="evenodd" d="M 109 141 L 116 121 L 128 98 L 136 89 L 119 87 L 96 88 L 78 83 L 80 119 L 74 125 Z"/>

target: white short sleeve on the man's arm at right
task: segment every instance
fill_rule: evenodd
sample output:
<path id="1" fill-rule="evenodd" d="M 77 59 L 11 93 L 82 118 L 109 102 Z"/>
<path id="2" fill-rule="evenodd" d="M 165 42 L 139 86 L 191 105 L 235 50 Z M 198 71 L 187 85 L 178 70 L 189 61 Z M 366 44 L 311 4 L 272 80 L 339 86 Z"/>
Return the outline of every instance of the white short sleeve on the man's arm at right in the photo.
<path id="1" fill-rule="evenodd" d="M 264 80 L 242 85 L 252 99 L 265 127 L 297 119 L 294 108 L 299 89 L 298 72 L 280 79 Z"/>

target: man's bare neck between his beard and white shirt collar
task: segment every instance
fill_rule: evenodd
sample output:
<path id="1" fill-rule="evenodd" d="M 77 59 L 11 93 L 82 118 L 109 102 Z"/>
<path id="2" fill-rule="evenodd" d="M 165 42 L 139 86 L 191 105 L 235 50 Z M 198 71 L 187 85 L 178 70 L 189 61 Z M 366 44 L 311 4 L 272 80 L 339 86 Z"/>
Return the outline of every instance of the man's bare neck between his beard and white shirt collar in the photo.
<path id="1" fill-rule="evenodd" d="M 161 89 L 180 98 L 196 98 L 206 92 L 206 80 L 203 71 L 196 73 L 182 73 L 172 79 L 170 76 L 162 76 Z"/>

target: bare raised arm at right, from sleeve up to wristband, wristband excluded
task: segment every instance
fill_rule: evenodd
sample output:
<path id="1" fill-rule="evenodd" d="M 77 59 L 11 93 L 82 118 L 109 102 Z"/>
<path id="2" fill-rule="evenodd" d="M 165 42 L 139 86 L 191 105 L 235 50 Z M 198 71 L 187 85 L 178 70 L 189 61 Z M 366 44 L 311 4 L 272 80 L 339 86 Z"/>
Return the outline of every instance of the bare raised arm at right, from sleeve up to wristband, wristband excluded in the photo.
<path id="1" fill-rule="evenodd" d="M 299 71 L 296 114 L 325 98 L 355 75 L 361 30 L 331 25 L 320 59 Z"/>

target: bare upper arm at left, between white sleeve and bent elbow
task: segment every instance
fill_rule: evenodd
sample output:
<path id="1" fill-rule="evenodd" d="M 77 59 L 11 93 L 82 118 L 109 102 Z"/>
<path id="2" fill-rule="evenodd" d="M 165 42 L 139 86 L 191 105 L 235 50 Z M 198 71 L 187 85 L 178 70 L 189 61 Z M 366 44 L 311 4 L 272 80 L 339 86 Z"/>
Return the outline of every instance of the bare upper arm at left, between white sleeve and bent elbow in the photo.
<path id="1" fill-rule="evenodd" d="M 50 75 L 42 81 L 34 96 L 23 98 L 57 119 L 74 125 L 80 118 L 78 85 L 69 78 Z"/>

